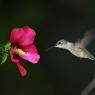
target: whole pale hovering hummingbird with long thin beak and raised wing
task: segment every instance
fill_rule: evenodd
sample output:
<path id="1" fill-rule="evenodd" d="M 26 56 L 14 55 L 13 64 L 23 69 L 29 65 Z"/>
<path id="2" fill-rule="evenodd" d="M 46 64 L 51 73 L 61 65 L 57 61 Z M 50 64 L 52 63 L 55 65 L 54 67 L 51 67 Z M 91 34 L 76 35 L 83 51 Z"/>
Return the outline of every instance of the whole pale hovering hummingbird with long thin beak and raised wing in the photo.
<path id="1" fill-rule="evenodd" d="M 86 32 L 82 39 L 78 39 L 75 43 L 66 41 L 64 39 L 59 40 L 54 46 L 48 48 L 62 48 L 70 51 L 73 55 L 79 58 L 88 58 L 90 60 L 95 60 L 95 57 L 86 49 L 86 46 L 95 37 L 95 27 Z"/>

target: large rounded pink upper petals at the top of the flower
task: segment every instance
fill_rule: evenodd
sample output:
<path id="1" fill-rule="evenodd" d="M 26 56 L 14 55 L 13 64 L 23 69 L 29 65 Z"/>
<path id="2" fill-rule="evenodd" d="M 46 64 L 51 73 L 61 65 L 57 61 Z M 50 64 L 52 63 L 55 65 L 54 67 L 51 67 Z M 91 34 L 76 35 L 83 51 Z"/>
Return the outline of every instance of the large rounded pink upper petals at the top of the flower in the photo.
<path id="1" fill-rule="evenodd" d="M 12 45 L 25 47 L 33 43 L 35 36 L 35 31 L 29 26 L 24 26 L 23 28 L 14 28 L 11 31 L 10 42 Z"/>

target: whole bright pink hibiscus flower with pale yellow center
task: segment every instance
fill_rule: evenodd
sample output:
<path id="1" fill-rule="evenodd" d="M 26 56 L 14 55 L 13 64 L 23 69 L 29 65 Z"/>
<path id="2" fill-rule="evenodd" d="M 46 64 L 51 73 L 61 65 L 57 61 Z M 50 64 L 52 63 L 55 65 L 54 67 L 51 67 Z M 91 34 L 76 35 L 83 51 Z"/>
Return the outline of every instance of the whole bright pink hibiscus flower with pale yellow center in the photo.
<path id="1" fill-rule="evenodd" d="M 28 60 L 33 64 L 37 64 L 40 55 L 38 54 L 36 46 L 33 44 L 36 33 L 29 26 L 23 28 L 14 28 L 11 31 L 10 42 L 10 56 L 12 62 L 15 62 L 21 76 L 27 74 L 27 70 L 24 68 L 21 59 Z"/>

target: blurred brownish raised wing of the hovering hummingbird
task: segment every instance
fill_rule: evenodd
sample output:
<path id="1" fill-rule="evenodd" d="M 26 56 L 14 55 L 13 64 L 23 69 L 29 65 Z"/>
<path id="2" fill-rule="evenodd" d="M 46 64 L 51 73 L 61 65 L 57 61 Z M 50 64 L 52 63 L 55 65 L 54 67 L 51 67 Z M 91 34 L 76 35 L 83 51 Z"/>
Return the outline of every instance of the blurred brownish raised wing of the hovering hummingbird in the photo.
<path id="1" fill-rule="evenodd" d="M 85 48 L 95 38 L 95 27 L 84 34 L 82 39 L 78 39 L 75 45 Z"/>

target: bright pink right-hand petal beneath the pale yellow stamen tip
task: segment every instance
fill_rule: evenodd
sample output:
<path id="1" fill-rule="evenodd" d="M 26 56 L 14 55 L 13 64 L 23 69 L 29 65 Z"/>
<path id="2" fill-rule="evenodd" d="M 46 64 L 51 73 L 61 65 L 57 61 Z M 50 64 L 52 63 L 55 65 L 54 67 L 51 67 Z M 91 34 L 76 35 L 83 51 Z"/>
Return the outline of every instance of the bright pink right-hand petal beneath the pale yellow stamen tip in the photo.
<path id="1" fill-rule="evenodd" d="M 23 51 L 26 53 L 26 55 L 20 55 L 21 58 L 28 60 L 32 62 L 33 64 L 38 63 L 40 59 L 40 55 L 38 54 L 38 51 L 35 45 L 30 45 L 24 48 Z"/>

